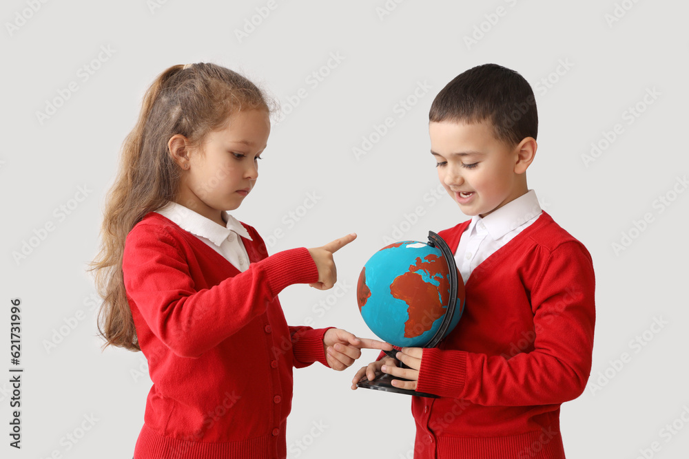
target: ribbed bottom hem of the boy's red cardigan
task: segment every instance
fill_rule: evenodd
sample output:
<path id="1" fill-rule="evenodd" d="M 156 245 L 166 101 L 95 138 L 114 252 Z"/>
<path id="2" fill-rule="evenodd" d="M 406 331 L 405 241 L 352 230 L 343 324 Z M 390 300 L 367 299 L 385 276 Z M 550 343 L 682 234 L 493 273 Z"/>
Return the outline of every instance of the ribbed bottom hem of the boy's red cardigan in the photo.
<path id="1" fill-rule="evenodd" d="M 438 437 L 438 455 L 433 442 L 418 445 L 414 458 L 438 459 L 565 459 L 559 431 L 535 431 L 525 434 L 491 437 Z"/>

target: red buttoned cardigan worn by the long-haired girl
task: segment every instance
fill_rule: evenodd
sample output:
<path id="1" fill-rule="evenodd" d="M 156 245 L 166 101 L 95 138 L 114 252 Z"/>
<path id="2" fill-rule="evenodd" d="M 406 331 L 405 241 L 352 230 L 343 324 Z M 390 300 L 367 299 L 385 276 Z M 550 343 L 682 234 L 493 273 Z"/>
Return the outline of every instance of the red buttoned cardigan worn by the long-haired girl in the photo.
<path id="1" fill-rule="evenodd" d="M 127 301 L 153 381 L 136 459 L 287 456 L 292 367 L 327 365 L 327 329 L 289 327 L 277 295 L 318 270 L 306 248 L 267 257 L 244 226 L 243 273 L 158 213 L 127 235 Z"/>

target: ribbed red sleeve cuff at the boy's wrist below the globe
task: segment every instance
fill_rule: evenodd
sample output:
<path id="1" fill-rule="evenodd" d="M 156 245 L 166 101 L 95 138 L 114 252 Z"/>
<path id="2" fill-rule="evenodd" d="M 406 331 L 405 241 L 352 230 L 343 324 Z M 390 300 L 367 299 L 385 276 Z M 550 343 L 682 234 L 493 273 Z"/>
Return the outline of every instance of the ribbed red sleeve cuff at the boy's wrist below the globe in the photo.
<path id="1" fill-rule="evenodd" d="M 424 349 L 416 390 L 442 397 L 461 398 L 466 381 L 466 352 Z"/>

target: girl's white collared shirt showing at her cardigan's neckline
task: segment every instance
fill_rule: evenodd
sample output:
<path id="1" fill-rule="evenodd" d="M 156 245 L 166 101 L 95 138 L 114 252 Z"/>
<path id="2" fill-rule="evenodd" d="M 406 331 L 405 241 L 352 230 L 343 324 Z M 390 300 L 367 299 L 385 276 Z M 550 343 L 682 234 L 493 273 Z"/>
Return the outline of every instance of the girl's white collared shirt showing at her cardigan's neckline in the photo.
<path id="1" fill-rule="evenodd" d="M 249 268 L 249 255 L 241 237 L 251 241 L 251 236 L 239 220 L 229 215 L 227 211 L 223 212 L 223 220 L 227 222 L 224 228 L 213 220 L 176 202 L 169 202 L 158 209 L 156 213 L 169 218 L 183 230 L 198 237 L 238 270 L 245 271 Z"/>

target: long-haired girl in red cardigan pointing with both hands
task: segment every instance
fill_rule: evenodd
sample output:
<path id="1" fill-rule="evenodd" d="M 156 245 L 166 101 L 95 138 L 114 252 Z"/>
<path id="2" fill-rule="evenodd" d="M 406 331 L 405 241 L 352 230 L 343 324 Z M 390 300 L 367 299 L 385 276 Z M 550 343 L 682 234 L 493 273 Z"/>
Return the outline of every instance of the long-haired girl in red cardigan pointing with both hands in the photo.
<path id="1" fill-rule="evenodd" d="M 356 235 L 268 257 L 227 213 L 256 183 L 270 111 L 232 70 L 174 65 L 124 142 L 92 269 L 105 345 L 141 350 L 153 381 L 134 458 L 285 458 L 292 367 L 344 370 L 361 348 L 391 349 L 288 326 L 280 308 L 291 284 L 331 288 L 333 253 Z"/>

